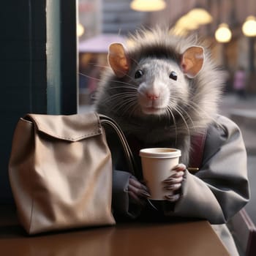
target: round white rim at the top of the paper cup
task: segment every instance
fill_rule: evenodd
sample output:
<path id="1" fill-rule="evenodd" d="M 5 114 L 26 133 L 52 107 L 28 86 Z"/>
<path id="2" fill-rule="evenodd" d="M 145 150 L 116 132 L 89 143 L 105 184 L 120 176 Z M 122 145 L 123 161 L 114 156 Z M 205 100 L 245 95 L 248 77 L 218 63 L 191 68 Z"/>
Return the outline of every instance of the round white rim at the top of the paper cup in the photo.
<path id="1" fill-rule="evenodd" d="M 140 157 L 151 157 L 151 158 L 181 157 L 181 151 L 177 148 L 143 148 L 143 149 L 140 149 Z"/>

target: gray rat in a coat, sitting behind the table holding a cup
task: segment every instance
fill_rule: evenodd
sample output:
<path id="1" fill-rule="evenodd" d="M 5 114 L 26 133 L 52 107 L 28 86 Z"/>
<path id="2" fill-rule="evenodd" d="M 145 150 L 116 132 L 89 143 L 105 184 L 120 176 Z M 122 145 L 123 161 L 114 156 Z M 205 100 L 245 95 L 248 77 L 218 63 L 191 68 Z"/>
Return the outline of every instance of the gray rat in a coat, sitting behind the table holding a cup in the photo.
<path id="1" fill-rule="evenodd" d="M 222 71 L 212 61 L 208 47 L 194 36 L 143 29 L 128 42 L 109 47 L 110 68 L 102 74 L 96 110 L 121 127 L 139 164 L 140 148 L 178 148 L 181 157 L 173 168 L 176 172 L 162 182 L 170 195 L 154 202 L 152 209 L 141 170 L 129 173 L 115 153 L 120 154 L 121 148 L 107 131 L 115 162 L 115 216 L 207 219 L 218 226 L 217 233 L 230 254 L 238 255 L 225 223 L 248 202 L 249 183 L 241 131 L 218 113 L 225 83 Z M 205 131 L 202 166 L 197 173 L 189 173 L 192 138 Z"/>

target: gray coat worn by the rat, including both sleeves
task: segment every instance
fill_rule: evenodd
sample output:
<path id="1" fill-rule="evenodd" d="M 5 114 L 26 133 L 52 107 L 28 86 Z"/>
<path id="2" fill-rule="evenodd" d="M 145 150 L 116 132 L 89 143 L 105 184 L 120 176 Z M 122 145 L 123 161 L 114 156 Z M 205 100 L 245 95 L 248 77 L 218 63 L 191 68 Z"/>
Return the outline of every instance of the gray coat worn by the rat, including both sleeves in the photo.
<path id="1" fill-rule="evenodd" d="M 146 216 L 145 209 L 129 205 L 127 186 L 131 174 L 119 169 L 113 173 L 114 214 L 128 218 Z M 171 207 L 164 201 L 161 207 L 157 206 L 158 211 L 167 218 L 207 219 L 230 255 L 238 255 L 225 223 L 248 202 L 249 182 L 241 131 L 229 118 L 218 116 L 216 123 L 208 127 L 202 167 L 195 174 L 186 170 L 181 195 Z"/>

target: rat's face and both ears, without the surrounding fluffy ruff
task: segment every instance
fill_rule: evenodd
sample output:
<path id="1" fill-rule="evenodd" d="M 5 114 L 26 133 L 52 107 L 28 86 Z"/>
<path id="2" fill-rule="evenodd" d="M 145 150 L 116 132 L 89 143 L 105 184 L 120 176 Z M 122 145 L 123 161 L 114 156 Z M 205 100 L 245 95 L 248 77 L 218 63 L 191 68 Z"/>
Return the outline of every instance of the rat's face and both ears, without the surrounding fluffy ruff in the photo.
<path id="1" fill-rule="evenodd" d="M 133 110 L 137 114 L 157 116 L 178 112 L 188 102 L 187 78 L 195 78 L 203 67 L 203 59 L 203 48 L 198 46 L 189 47 L 181 54 L 166 45 L 150 45 L 132 53 L 114 43 L 108 54 L 116 77 L 127 83 L 122 86 L 130 85 L 133 89 L 133 97 L 137 99 L 132 101 Z"/>

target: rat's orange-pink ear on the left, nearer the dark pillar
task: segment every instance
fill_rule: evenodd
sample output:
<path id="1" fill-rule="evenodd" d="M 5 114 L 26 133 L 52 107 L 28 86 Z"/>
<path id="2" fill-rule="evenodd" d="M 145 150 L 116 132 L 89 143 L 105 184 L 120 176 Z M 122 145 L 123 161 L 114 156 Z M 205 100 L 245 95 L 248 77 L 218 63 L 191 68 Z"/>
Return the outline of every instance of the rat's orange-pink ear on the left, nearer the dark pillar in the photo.
<path id="1" fill-rule="evenodd" d="M 108 50 L 108 63 L 118 78 L 124 77 L 129 70 L 129 59 L 120 43 L 113 43 Z"/>

